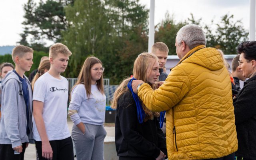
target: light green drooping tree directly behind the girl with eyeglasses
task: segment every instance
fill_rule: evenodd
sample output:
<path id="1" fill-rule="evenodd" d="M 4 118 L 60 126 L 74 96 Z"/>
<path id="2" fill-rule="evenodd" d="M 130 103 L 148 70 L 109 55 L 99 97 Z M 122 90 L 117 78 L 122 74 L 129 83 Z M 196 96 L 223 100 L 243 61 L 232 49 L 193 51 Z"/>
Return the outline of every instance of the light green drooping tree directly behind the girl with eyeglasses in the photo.
<path id="1" fill-rule="evenodd" d="M 63 32 L 63 42 L 74 54 L 67 76 L 77 77 L 86 57 L 111 54 L 112 28 L 101 0 L 76 0 L 65 11 L 70 26 Z"/>

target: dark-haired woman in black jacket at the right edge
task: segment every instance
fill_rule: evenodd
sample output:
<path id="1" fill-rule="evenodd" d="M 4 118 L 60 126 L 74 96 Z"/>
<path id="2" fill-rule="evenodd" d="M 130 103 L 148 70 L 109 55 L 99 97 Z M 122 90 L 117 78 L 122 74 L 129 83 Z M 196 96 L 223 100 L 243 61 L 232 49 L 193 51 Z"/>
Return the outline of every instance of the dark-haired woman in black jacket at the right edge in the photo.
<path id="1" fill-rule="evenodd" d="M 237 160 L 256 160 L 256 41 L 238 45 L 239 68 L 249 78 L 234 99 L 236 132 L 238 138 Z"/>

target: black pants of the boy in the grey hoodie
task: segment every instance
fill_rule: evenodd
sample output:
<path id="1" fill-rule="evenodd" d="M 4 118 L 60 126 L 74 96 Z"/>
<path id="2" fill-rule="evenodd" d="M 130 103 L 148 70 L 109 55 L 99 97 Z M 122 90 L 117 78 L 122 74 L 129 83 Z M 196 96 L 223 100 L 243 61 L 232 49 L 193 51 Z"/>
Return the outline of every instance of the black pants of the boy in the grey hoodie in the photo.
<path id="1" fill-rule="evenodd" d="M 0 144 L 0 160 L 24 160 L 26 143 L 22 143 L 22 152 L 14 154 L 12 144 Z"/>

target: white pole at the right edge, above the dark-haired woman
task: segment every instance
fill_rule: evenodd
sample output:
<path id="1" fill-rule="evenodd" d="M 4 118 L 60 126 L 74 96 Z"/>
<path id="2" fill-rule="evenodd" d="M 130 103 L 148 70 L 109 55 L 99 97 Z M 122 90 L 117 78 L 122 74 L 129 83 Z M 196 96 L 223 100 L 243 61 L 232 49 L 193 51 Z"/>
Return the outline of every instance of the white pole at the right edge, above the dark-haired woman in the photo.
<path id="1" fill-rule="evenodd" d="M 255 40 L 255 0 L 250 0 L 250 30 L 249 40 Z"/>

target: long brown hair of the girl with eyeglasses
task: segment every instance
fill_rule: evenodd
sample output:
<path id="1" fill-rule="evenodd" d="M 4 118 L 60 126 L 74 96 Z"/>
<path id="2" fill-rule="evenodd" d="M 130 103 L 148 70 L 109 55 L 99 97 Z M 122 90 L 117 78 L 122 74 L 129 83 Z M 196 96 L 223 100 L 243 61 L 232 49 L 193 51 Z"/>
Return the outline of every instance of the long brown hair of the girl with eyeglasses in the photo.
<path id="1" fill-rule="evenodd" d="M 102 62 L 94 56 L 89 56 L 88 58 L 86 58 L 86 60 L 84 61 L 84 65 L 78 75 L 76 84 L 73 86 L 72 90 L 75 88 L 76 85 L 84 84 L 84 87 L 86 90 L 86 95 L 88 98 L 90 98 L 90 94 L 92 94 L 92 92 L 91 92 L 91 86 L 92 86 L 91 68 L 94 64 L 97 64 L 97 63 L 100 63 L 102 65 Z M 100 79 L 96 81 L 96 85 L 97 85 L 98 90 L 102 94 L 104 94 L 103 73 L 102 73 L 102 76 L 100 77 Z M 70 94 L 70 100 L 71 100 L 71 94 Z"/>

